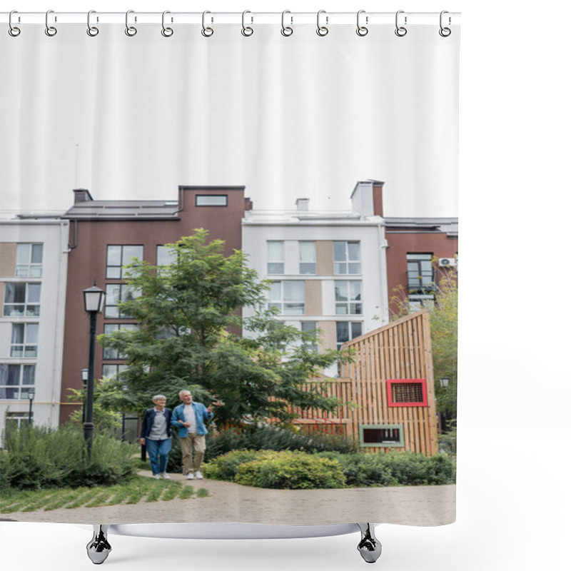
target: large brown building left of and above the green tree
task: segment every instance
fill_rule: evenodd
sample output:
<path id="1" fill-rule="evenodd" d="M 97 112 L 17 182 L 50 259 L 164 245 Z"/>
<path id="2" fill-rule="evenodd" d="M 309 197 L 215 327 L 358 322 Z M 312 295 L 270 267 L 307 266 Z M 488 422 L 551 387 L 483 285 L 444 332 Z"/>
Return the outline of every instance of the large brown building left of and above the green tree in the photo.
<path id="1" fill-rule="evenodd" d="M 121 266 L 131 258 L 151 264 L 166 256 L 163 245 L 206 228 L 213 238 L 226 241 L 226 253 L 240 249 L 241 219 L 251 209 L 244 186 L 179 186 L 177 201 L 97 201 L 85 189 L 74 190 L 69 220 L 64 359 L 61 376 L 60 422 L 76 405 L 68 404 L 69 388 L 82 386 L 81 369 L 88 364 L 88 315 L 83 290 L 96 281 L 106 290 L 106 305 L 97 321 L 97 334 L 133 327 L 121 315 L 118 302 L 130 295 Z M 167 262 L 166 260 L 164 260 Z M 123 367 L 120 355 L 96 350 L 95 378 L 111 376 Z"/>

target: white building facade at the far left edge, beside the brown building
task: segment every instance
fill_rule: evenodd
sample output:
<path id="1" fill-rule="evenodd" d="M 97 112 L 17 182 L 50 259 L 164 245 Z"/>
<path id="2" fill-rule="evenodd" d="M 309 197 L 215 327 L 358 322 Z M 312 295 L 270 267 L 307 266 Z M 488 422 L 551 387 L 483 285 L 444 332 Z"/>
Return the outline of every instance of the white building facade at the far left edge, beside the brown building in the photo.
<path id="1" fill-rule="evenodd" d="M 61 219 L 0 221 L 2 436 L 30 404 L 34 425 L 59 424 L 68 236 Z"/>

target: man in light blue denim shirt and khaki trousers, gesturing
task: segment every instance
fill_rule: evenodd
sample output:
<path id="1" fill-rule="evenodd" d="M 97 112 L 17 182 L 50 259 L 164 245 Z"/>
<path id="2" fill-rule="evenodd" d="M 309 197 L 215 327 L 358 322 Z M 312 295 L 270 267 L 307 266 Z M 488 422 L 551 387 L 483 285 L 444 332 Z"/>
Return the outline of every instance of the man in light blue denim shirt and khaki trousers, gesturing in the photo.
<path id="1" fill-rule="evenodd" d="M 181 390 L 178 393 L 183 401 L 173 410 L 171 424 L 178 426 L 178 440 L 183 453 L 183 473 L 188 480 L 202 479 L 201 464 L 206 451 L 206 426 L 204 423 L 212 420 L 213 407 L 208 408 L 202 403 L 193 403 L 190 390 Z M 194 460 L 193 453 L 194 450 Z"/>

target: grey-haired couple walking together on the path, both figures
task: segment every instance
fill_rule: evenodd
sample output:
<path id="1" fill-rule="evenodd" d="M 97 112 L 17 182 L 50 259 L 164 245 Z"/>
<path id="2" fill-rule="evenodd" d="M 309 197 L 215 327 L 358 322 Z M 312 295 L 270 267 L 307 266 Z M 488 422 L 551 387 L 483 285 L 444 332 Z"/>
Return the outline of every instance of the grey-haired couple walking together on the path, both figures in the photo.
<path id="1" fill-rule="evenodd" d="M 155 406 L 146 410 L 143 415 L 140 442 L 146 445 L 153 477 L 156 480 L 170 480 L 166 473 L 166 464 L 171 451 L 171 427 L 178 427 L 178 441 L 183 453 L 183 473 L 188 480 L 195 477 L 201 480 L 201 464 L 206 451 L 205 423 L 214 416 L 213 406 L 194 403 L 190 390 L 181 390 L 178 397 L 183 402 L 174 410 L 166 408 L 164 395 L 153 397 Z"/>

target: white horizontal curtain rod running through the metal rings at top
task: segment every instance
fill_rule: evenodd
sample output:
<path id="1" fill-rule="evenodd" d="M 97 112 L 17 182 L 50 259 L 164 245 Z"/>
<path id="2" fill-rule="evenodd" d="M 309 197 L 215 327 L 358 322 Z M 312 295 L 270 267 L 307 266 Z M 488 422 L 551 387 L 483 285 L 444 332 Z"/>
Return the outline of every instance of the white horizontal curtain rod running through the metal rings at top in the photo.
<path id="1" fill-rule="evenodd" d="M 357 12 L 328 12 L 320 11 L 320 24 L 338 25 L 355 24 Z M 49 23 L 56 24 L 86 24 L 88 20 L 87 12 L 19 12 L 11 13 L 11 23 L 17 24 L 46 24 L 46 17 Z M 315 24 L 318 19 L 317 12 L 139 12 L 129 11 L 128 19 L 131 24 L 161 24 L 163 21 L 168 24 L 282 24 L 288 26 L 295 24 Z M 359 22 L 362 25 L 395 24 L 399 25 L 424 24 L 444 26 L 460 24 L 460 12 L 367 12 L 360 11 Z M 10 13 L 0 13 L 0 22 L 8 24 Z M 98 12 L 91 11 L 91 24 L 125 24 L 125 12 Z"/>

